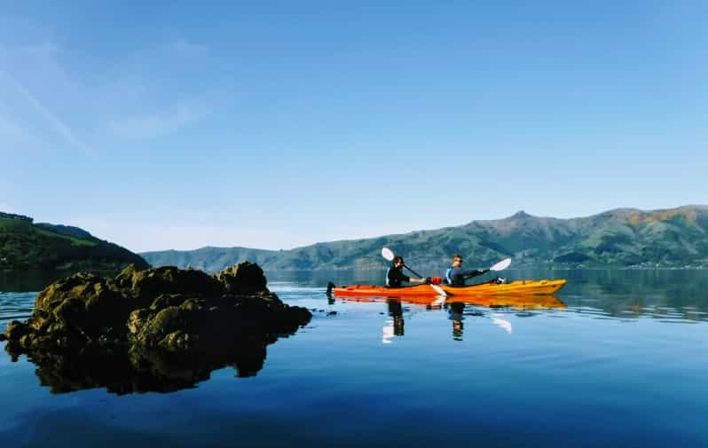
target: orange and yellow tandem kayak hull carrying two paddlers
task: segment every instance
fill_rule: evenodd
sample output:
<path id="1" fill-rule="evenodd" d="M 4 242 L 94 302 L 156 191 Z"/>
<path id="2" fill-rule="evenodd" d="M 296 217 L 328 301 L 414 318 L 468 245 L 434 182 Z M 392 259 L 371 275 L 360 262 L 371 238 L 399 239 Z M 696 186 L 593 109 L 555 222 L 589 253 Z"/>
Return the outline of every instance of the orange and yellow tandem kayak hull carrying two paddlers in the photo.
<path id="1" fill-rule="evenodd" d="M 443 288 L 445 294 L 452 297 L 484 296 L 484 295 L 552 295 L 561 289 L 567 280 L 518 280 L 511 283 L 480 283 L 468 287 L 451 287 L 436 285 Z M 333 287 L 334 295 L 346 296 L 376 296 L 376 297 L 427 297 L 437 296 L 437 290 L 432 285 L 415 285 L 413 287 L 380 287 L 375 285 L 352 285 L 348 287 Z"/>

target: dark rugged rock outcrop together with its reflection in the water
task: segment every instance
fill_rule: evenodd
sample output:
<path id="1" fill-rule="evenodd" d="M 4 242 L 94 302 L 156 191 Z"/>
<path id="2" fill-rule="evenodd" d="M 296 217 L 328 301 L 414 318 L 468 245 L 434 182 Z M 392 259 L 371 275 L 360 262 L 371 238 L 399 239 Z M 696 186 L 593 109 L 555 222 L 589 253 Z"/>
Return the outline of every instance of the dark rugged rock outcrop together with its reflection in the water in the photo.
<path id="1" fill-rule="evenodd" d="M 28 354 L 54 392 L 183 389 L 226 365 L 251 376 L 268 344 L 311 318 L 265 284 L 254 263 L 213 276 L 133 266 L 113 279 L 75 274 L 37 295 L 27 322 L 7 326 L 6 350 Z"/>

